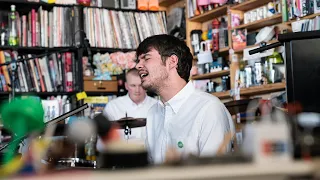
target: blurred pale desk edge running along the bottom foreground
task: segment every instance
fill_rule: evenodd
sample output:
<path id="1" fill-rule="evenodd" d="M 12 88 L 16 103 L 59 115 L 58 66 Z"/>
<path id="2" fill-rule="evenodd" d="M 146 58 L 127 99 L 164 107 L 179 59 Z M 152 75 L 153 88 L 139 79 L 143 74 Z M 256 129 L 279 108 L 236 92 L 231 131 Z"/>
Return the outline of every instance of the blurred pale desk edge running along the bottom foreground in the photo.
<path id="1" fill-rule="evenodd" d="M 228 164 L 201 165 L 188 167 L 150 167 L 122 171 L 65 171 L 54 174 L 19 177 L 12 179 L 103 179 L 103 180 L 181 180 L 181 179 L 287 179 L 290 176 L 315 175 L 320 169 L 320 161 L 274 163 L 269 165 Z"/>

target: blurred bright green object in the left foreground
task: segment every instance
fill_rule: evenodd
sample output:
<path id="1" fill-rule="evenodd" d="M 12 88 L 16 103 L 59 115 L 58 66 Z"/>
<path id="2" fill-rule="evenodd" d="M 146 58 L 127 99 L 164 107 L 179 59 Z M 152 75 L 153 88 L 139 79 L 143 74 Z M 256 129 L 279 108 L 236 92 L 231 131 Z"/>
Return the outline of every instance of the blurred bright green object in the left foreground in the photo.
<path id="1" fill-rule="evenodd" d="M 15 98 L 11 102 L 3 104 L 1 117 L 3 127 L 14 134 L 12 143 L 8 146 L 4 156 L 4 162 L 9 162 L 15 154 L 20 143 L 19 139 L 32 132 L 44 130 L 44 111 L 41 102 L 35 98 Z"/>

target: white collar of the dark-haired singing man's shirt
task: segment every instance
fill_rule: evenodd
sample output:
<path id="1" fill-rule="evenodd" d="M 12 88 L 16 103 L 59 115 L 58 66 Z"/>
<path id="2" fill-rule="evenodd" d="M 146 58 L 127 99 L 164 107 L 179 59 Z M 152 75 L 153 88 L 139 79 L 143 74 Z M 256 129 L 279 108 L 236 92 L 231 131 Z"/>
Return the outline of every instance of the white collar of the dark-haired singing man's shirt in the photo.
<path id="1" fill-rule="evenodd" d="M 180 107 L 188 99 L 188 97 L 194 92 L 195 88 L 191 81 L 189 81 L 175 96 L 173 96 L 169 101 L 162 103 L 159 101 L 161 106 L 169 105 L 174 113 L 178 113 Z"/>

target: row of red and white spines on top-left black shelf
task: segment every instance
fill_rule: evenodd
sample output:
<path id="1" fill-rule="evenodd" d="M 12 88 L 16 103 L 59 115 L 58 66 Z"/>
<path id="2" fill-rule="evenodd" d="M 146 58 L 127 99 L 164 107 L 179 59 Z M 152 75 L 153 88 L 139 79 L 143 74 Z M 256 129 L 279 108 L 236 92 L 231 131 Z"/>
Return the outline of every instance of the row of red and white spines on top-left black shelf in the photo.
<path id="1" fill-rule="evenodd" d="M 79 19 L 75 18 L 77 7 L 43 7 L 31 9 L 28 13 L 16 12 L 16 27 L 19 46 L 24 47 L 69 47 L 74 45 L 75 32 L 79 29 Z M 8 24 L 6 13 L 1 13 L 0 20 Z M 7 37 L 9 36 L 7 32 Z M 79 35 L 78 35 L 79 36 Z M 4 43 L 4 42 L 3 42 Z M 3 44 L 2 45 L 7 45 Z"/>

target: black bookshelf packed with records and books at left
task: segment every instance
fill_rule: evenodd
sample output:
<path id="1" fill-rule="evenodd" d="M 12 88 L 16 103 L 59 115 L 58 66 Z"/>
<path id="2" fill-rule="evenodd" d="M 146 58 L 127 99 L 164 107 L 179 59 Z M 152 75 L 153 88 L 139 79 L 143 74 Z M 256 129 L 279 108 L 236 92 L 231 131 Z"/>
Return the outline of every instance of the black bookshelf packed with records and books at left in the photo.
<path id="1" fill-rule="evenodd" d="M 169 2 L 169 1 L 168 1 Z M 178 1 L 176 1 L 178 2 Z M 170 1 L 171 3 L 171 1 Z M 48 70 L 50 70 L 49 72 L 47 72 L 48 74 L 46 76 L 43 76 L 43 83 L 40 82 L 40 76 L 36 76 L 36 74 L 41 73 L 42 72 L 42 67 L 41 66 L 36 66 L 36 59 L 32 59 L 32 60 L 28 60 L 29 62 L 34 62 L 33 65 L 33 69 L 35 70 L 34 74 L 27 74 L 28 77 L 30 78 L 34 78 L 33 79 L 29 79 L 30 81 L 27 80 L 27 82 L 32 82 L 35 83 L 35 81 L 37 81 L 39 84 L 35 85 L 35 84 L 31 84 L 31 86 L 37 86 L 39 89 L 32 89 L 32 90 L 19 90 L 16 91 L 15 94 L 17 96 L 39 96 L 41 97 L 41 99 L 46 99 L 48 97 L 56 97 L 56 96 L 67 96 L 68 98 L 70 98 L 70 102 L 72 102 L 72 106 L 76 107 L 78 105 L 81 105 L 83 103 L 83 101 L 78 101 L 76 99 L 76 94 L 79 92 L 83 92 L 84 91 L 84 86 L 85 86 L 85 80 L 86 78 L 83 76 L 82 70 L 83 70 L 83 66 L 82 66 L 82 58 L 84 57 L 84 55 L 87 54 L 87 48 L 84 46 L 84 34 L 83 32 L 86 32 L 86 36 L 90 41 L 91 47 L 90 51 L 92 52 L 92 55 L 94 55 L 95 53 L 114 53 L 114 52 L 131 52 L 131 51 L 135 51 L 137 44 L 139 42 L 141 42 L 146 36 L 146 35 L 154 35 L 156 33 L 161 34 L 161 33 L 166 33 L 165 32 L 165 25 L 163 25 L 165 22 L 165 12 L 163 10 L 161 11 L 140 11 L 140 10 L 129 10 L 129 9 L 116 9 L 116 8 L 105 8 L 105 7 L 95 7 L 95 6 L 91 6 L 91 7 L 85 7 L 82 5 L 77 5 L 77 4 L 70 4 L 70 5 L 66 5 L 66 4 L 47 4 L 45 2 L 28 2 L 28 1 L 22 1 L 22 0 L 0 0 L 0 10 L 6 10 L 6 11 L 10 11 L 10 6 L 12 4 L 14 4 L 16 6 L 16 10 L 19 13 L 19 23 L 21 23 L 21 31 L 19 31 L 19 37 L 21 39 L 19 39 L 19 41 L 21 42 L 20 46 L 8 46 L 8 45 L 4 45 L 4 46 L 0 46 L 0 51 L 3 52 L 18 52 L 18 57 L 21 57 L 22 59 L 28 57 L 28 54 L 33 55 L 39 55 L 39 54 L 44 54 L 44 53 L 50 53 L 50 55 L 54 52 L 57 51 L 67 51 L 72 53 L 72 62 L 73 64 L 69 67 L 69 69 L 71 69 L 71 71 L 73 72 L 73 75 L 68 75 L 69 78 L 72 78 L 72 84 L 73 84 L 73 89 L 72 90 L 68 90 L 68 91 L 61 91 L 61 90 L 52 90 L 50 92 L 48 92 L 49 90 L 46 89 L 47 88 L 47 84 L 50 80 L 49 79 L 45 79 L 45 78 L 53 78 L 51 77 L 53 74 L 51 72 L 51 70 L 48 67 Z M 119 42 L 119 39 L 113 39 L 113 36 L 99 36 L 99 33 L 101 33 L 103 29 L 101 22 L 103 22 L 105 19 L 105 16 L 102 16 L 102 14 L 99 14 L 99 17 L 96 17 L 96 19 L 94 20 L 99 20 L 100 23 L 97 23 L 96 21 L 86 21 L 88 19 L 86 19 L 85 16 L 85 9 L 92 9 L 92 12 L 114 12 L 114 14 L 116 14 L 118 16 L 118 14 L 124 14 L 126 16 L 129 16 L 128 14 L 133 15 L 132 18 L 130 20 L 135 20 L 136 16 L 138 17 L 138 15 L 141 16 L 141 18 L 149 18 L 149 17 L 153 17 L 154 19 L 150 20 L 147 19 L 145 21 L 148 21 L 148 23 L 144 23 L 144 24 L 153 24 L 156 25 L 157 28 L 162 28 L 161 30 L 155 32 L 153 31 L 154 29 L 142 29 L 145 28 L 145 25 L 141 24 L 140 22 L 132 22 L 135 25 L 127 25 L 127 27 L 129 27 L 128 31 L 131 34 L 128 34 L 129 38 L 132 37 L 138 37 L 139 39 L 136 40 L 136 44 L 135 46 L 133 45 L 132 47 L 126 47 L 126 46 L 106 46 L 104 44 L 94 44 L 96 42 L 96 40 L 103 39 L 103 40 L 107 40 L 108 38 L 110 39 L 110 37 L 112 38 L 112 42 Z M 34 17 L 37 17 L 38 19 L 33 20 L 31 18 L 32 16 L 32 11 L 34 13 Z M 49 14 L 51 14 L 51 16 L 55 17 L 55 15 L 58 15 L 59 13 L 62 13 L 63 15 L 66 16 L 59 16 L 59 18 L 55 18 L 55 19 L 51 19 L 50 21 L 50 17 Z M 65 13 L 67 12 L 67 13 Z M 46 14 L 45 14 L 46 13 Z M 67 15 L 68 13 L 70 13 L 70 16 Z M 30 15 L 31 14 L 31 15 Z M 93 14 L 92 14 L 93 15 Z M 156 16 L 157 15 L 157 16 Z M 25 16 L 25 20 L 23 20 L 23 16 Z M 29 17 L 30 16 L 30 17 Z M 70 19 L 68 19 L 68 18 Z M 159 19 L 156 19 L 159 18 Z M 104 18 L 104 19 L 103 19 Z M 162 19 L 160 19 L 162 18 Z M 51 23 L 56 23 L 56 24 L 50 24 L 49 22 L 42 22 L 41 20 L 47 20 L 50 21 Z M 144 20 L 144 19 L 143 19 Z M 24 23 L 26 24 L 26 27 L 22 27 L 22 22 L 24 21 Z M 29 25 L 29 21 L 30 21 L 30 25 Z M 32 34 L 31 32 L 31 28 L 33 27 L 32 22 L 38 23 L 35 24 L 36 28 L 39 27 L 39 29 L 36 29 L 38 31 L 35 31 L 35 33 L 39 33 L 39 34 Z M 90 33 L 91 29 L 86 29 L 86 27 L 88 27 L 88 23 L 90 22 L 91 27 L 96 27 L 96 29 L 93 29 L 93 33 Z M 127 19 L 125 19 L 125 22 L 128 22 Z M 144 21 L 143 21 L 144 22 Z M 157 23 L 154 23 L 157 22 Z M 113 23 L 115 23 L 113 21 Z M 119 22 L 120 23 L 120 22 Z M 162 23 L 162 24 L 161 24 Z M 100 25 L 99 25 L 100 24 Z M 139 24 L 139 29 L 136 26 L 136 24 Z M 68 26 L 67 26 L 68 25 Z M 162 25 L 162 26 L 161 26 Z M 30 27 L 29 27 L 30 26 Z M 23 30 L 30 28 L 30 33 L 26 33 Z M 43 29 L 42 29 L 43 28 Z M 97 28 L 100 28 L 99 31 L 97 31 Z M 118 26 L 118 29 L 120 28 L 120 26 Z M 132 30 L 136 28 L 136 32 L 132 32 Z M 49 31 L 50 29 L 50 31 Z M 121 26 L 122 29 L 122 26 Z M 19 29 L 20 30 L 20 29 Z M 144 31 L 147 30 L 147 31 Z M 142 31 L 145 32 L 145 34 L 141 33 Z M 150 32 L 149 32 L 150 31 Z M 41 35 L 44 34 L 42 32 L 50 32 L 46 35 L 44 35 L 44 37 L 42 37 Z M 56 35 L 53 36 L 52 32 L 55 32 Z M 112 34 L 112 31 L 106 31 L 105 35 L 109 35 Z M 123 32 L 121 32 L 123 33 Z M 136 33 L 136 34 L 133 34 Z M 140 34 L 139 34 L 140 33 Z M 29 34 L 29 35 L 28 35 Z M 119 34 L 118 37 L 122 37 L 123 34 Z M 142 36 L 142 37 L 140 37 Z M 124 35 L 123 35 L 124 37 Z M 23 39 L 24 38 L 24 39 Z M 33 39 L 35 38 L 35 40 Z M 130 39 L 131 40 L 131 39 Z M 30 42 L 29 42 L 30 41 Z M 34 42 L 33 42 L 34 41 Z M 38 42 L 39 41 L 39 42 Z M 51 42 L 52 41 L 52 42 Z M 101 41 L 102 42 L 102 41 Z M 133 44 L 133 43 L 132 43 Z M 113 45 L 113 44 L 112 44 Z M 60 56 L 59 56 L 60 58 Z M 47 57 L 48 61 L 47 63 L 49 63 L 50 56 Z M 42 58 L 39 58 L 37 62 L 41 62 L 44 63 L 45 61 L 41 61 Z M 27 62 L 26 64 L 29 65 Z M 51 63 L 51 62 L 50 62 Z M 26 67 L 30 67 L 27 66 Z M 49 64 L 47 64 L 47 66 L 50 66 Z M 28 69 L 32 69 L 32 68 L 28 68 Z M 64 69 L 64 67 L 62 68 Z M 37 72 L 36 72 L 37 71 Z M 64 74 L 66 75 L 66 74 Z M 63 75 L 63 76 L 64 76 Z M 19 77 L 20 78 L 20 77 Z M 21 78 L 23 79 L 23 78 Z M 51 79 L 52 80 L 52 79 Z M 69 79 L 70 80 L 70 79 Z M 87 79 L 88 80 L 88 79 Z M 17 80 L 19 81 L 19 79 Z M 89 80 L 89 83 L 95 83 L 91 80 Z M 19 82 L 21 83 L 21 82 Z M 70 82 L 68 82 L 70 83 Z M 88 83 L 88 81 L 87 81 Z M 101 84 L 101 83 L 100 83 Z M 106 85 L 104 82 L 102 83 L 105 86 L 107 86 L 107 89 L 110 89 L 111 86 L 109 87 L 108 85 Z M 28 84 L 30 85 L 30 84 Z M 52 86 L 54 86 L 54 84 L 52 84 Z M 101 95 L 105 95 L 105 96 L 114 96 L 114 95 L 118 95 L 118 91 L 116 90 L 117 88 L 117 80 L 113 79 L 112 80 L 112 88 L 110 89 L 110 91 L 104 92 L 104 90 L 100 90 L 99 92 L 97 91 L 88 91 L 87 95 L 88 96 L 101 96 Z M 2 84 L 1 84 L 2 87 Z M 1 88 L 0 87 L 0 88 Z M 21 87 L 19 87 L 21 88 Z M 32 87 L 33 88 L 33 87 Z M 44 88 L 44 89 L 43 89 Z M 6 99 L 9 97 L 10 91 L 4 91 L 4 89 L 1 88 L 0 90 L 0 97 L 1 99 Z"/>

